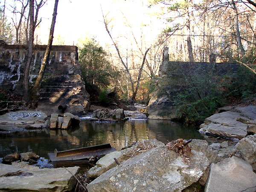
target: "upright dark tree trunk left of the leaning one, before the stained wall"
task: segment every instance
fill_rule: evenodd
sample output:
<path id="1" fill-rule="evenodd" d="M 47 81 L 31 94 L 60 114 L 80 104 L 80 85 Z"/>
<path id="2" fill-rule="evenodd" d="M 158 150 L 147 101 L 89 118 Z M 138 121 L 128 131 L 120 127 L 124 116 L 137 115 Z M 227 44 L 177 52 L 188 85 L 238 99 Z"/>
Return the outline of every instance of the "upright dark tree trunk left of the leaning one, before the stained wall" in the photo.
<path id="1" fill-rule="evenodd" d="M 33 55 L 33 43 L 34 43 L 34 0 L 29 0 L 29 41 L 28 41 L 28 55 L 27 62 L 24 69 L 23 89 L 24 89 L 24 100 L 29 101 L 29 69 Z"/>

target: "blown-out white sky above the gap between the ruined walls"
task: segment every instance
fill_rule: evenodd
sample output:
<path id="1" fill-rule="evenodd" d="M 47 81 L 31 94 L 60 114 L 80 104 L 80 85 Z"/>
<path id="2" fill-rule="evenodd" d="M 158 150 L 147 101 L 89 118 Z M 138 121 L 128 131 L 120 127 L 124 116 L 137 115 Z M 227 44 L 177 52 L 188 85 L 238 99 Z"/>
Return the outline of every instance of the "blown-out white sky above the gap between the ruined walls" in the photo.
<path id="1" fill-rule="evenodd" d="M 48 40 L 54 2 L 54 0 L 48 0 L 47 5 L 40 10 L 42 17 L 40 35 L 44 44 L 47 44 Z M 110 43 L 111 40 L 102 22 L 101 9 L 104 15 L 109 13 L 109 17 L 113 17 L 111 22 L 113 37 L 125 36 L 127 33 L 127 28 L 123 24 L 125 21 L 123 15 L 128 19 L 136 34 L 141 32 L 142 24 L 151 24 L 152 20 L 147 12 L 154 12 L 153 9 L 147 7 L 147 0 L 59 0 L 54 37 L 64 38 L 67 45 L 76 45 L 79 38 L 88 35 L 96 37 L 100 44 Z M 155 24 L 156 29 L 159 24 L 159 22 Z M 159 30 L 156 31 L 156 33 L 159 32 Z"/>

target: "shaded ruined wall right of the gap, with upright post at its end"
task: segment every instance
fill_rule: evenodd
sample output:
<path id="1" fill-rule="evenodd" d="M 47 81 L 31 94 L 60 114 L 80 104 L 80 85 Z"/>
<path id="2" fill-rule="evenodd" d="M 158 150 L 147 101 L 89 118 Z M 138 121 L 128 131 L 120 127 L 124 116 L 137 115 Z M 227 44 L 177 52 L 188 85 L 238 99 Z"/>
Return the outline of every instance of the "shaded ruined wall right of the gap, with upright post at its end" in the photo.
<path id="1" fill-rule="evenodd" d="M 177 94 L 183 93 L 182 87 L 186 87 L 184 78 L 189 74 L 191 76 L 205 76 L 207 73 L 212 73 L 213 76 L 221 77 L 234 74 L 239 68 L 240 65 L 234 63 L 169 61 L 168 48 L 165 48 L 163 62 L 158 72 L 157 86 L 147 106 L 148 118 L 177 118 L 174 99 Z"/>

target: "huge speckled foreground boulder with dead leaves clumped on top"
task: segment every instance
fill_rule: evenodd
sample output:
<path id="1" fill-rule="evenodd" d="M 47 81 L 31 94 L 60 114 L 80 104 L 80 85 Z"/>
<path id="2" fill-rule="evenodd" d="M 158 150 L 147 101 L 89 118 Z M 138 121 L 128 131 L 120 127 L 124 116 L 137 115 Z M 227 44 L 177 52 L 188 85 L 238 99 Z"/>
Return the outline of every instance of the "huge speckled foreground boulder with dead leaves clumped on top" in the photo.
<path id="1" fill-rule="evenodd" d="M 207 157 L 192 150 L 189 163 L 166 146 L 152 148 L 123 161 L 87 185 L 88 192 L 176 191 L 195 183 L 209 166 Z"/>

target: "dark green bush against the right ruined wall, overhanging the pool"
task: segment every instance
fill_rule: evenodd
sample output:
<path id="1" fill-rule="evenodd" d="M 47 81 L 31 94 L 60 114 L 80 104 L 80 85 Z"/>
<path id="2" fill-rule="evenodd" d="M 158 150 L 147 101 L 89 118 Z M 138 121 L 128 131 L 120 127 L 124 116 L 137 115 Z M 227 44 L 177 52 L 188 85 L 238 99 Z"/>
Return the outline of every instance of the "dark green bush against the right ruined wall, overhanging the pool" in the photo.
<path id="1" fill-rule="evenodd" d="M 221 80 L 212 69 L 199 67 L 183 78 L 184 92 L 174 97 L 178 119 L 199 124 L 223 106 Z"/>

